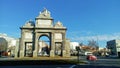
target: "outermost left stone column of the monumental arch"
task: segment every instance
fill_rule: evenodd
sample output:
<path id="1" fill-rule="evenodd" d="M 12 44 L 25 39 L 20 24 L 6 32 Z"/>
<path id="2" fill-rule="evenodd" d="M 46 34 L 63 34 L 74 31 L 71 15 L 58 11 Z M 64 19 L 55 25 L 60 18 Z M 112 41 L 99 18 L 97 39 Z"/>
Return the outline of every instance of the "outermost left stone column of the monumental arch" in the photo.
<path id="1" fill-rule="evenodd" d="M 21 31 L 21 39 L 20 39 L 20 58 L 24 57 L 24 55 L 25 55 L 24 35 L 25 35 L 25 32 L 22 30 Z"/>

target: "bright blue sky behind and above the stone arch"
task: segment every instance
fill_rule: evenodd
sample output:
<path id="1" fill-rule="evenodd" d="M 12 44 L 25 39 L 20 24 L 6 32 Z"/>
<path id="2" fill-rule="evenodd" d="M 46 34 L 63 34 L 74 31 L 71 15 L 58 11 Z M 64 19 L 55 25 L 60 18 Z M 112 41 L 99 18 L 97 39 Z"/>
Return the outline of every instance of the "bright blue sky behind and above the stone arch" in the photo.
<path id="1" fill-rule="evenodd" d="M 20 38 L 20 27 L 44 8 L 54 23 L 67 27 L 66 37 L 73 42 L 93 39 L 106 47 L 107 41 L 120 39 L 120 0 L 0 0 L 0 33 Z"/>

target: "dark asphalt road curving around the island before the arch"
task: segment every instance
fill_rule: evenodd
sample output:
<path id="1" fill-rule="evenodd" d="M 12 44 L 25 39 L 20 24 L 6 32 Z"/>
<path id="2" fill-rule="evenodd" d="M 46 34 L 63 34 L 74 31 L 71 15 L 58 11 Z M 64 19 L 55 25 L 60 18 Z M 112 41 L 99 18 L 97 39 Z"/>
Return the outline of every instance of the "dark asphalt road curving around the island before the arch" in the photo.
<path id="1" fill-rule="evenodd" d="M 12 59 L 12 58 L 11 58 Z M 88 64 L 78 65 L 20 65 L 20 66 L 0 66 L 0 68 L 120 68 L 120 58 L 98 57 L 98 60 L 87 61 L 85 56 L 80 56 L 80 60 Z"/>

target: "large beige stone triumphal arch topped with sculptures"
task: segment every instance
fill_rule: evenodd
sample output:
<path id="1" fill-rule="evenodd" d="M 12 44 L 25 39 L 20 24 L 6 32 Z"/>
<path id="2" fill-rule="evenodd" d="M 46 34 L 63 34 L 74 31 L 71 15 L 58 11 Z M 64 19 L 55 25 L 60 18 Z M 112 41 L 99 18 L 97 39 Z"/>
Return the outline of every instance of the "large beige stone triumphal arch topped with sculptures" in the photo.
<path id="1" fill-rule="evenodd" d="M 21 29 L 18 57 L 38 57 L 56 55 L 70 56 L 70 41 L 66 39 L 67 28 L 58 21 L 53 23 L 53 18 L 47 9 L 44 9 L 34 21 L 28 21 Z M 42 36 L 49 39 L 49 44 L 40 40 Z"/>

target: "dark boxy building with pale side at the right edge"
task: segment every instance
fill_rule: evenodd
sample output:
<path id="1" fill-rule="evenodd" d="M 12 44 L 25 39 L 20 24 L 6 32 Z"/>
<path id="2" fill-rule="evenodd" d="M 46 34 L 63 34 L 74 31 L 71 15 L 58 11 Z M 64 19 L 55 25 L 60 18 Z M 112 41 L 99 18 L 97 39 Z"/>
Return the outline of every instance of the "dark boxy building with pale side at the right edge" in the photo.
<path id="1" fill-rule="evenodd" d="M 110 50 L 111 55 L 116 55 L 120 57 L 120 40 L 108 41 L 107 48 Z"/>

